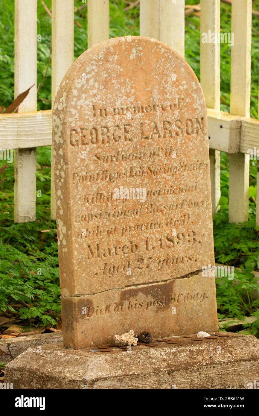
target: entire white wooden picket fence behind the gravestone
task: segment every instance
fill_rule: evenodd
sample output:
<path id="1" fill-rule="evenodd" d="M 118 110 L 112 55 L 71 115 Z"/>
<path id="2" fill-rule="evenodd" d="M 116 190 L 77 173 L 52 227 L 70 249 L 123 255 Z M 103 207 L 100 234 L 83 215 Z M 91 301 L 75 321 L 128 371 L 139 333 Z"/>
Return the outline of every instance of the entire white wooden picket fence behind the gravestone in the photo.
<path id="1" fill-rule="evenodd" d="M 91 47 L 109 38 L 109 0 L 87 3 L 88 46 Z M 184 56 L 184 11 L 184 0 L 141 0 L 141 35 L 159 39 Z M 219 33 L 220 0 L 201 0 L 200 11 L 200 32 Z M 220 198 L 220 151 L 224 151 L 229 153 L 229 222 L 243 222 L 248 218 L 247 151 L 254 146 L 259 148 L 259 121 L 249 118 L 251 22 L 252 0 L 232 0 L 230 114 L 220 111 L 220 44 L 200 43 L 200 78 L 210 138 L 212 207 L 215 210 Z M 74 1 L 52 0 L 52 102 L 73 62 L 73 51 Z M 15 0 L 15 97 L 35 83 L 18 113 L 0 114 L 0 149 L 16 149 L 14 213 L 15 222 L 19 223 L 35 220 L 36 148 L 52 144 L 52 111 L 36 111 L 36 75 L 37 0 Z M 55 219 L 53 169 L 51 218 Z"/>

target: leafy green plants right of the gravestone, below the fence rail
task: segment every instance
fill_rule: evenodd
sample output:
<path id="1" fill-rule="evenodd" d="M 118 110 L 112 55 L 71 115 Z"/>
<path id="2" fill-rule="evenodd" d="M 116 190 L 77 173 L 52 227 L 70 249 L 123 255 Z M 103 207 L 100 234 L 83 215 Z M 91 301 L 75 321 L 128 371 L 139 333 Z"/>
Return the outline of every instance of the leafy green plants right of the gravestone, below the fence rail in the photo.
<path id="1" fill-rule="evenodd" d="M 215 261 L 239 267 L 234 269 L 233 280 L 216 279 L 219 317 L 238 317 L 254 315 L 258 319 L 252 332 L 259 335 L 259 300 L 253 300 L 253 291 L 258 291 L 253 270 L 259 270 L 259 230 L 255 224 L 256 205 L 249 201 L 249 220 L 242 224 L 228 222 L 229 158 L 221 153 L 221 198 L 220 210 L 213 217 Z M 256 161 L 250 162 L 249 198 L 256 198 Z M 241 270 L 240 270 L 241 269 Z"/>

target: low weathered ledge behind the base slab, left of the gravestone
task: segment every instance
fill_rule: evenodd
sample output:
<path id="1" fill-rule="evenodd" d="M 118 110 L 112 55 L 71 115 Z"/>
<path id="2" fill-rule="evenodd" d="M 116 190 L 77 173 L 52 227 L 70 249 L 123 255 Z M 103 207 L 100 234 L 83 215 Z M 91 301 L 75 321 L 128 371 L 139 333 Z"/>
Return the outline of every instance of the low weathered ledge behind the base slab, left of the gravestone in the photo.
<path id="1" fill-rule="evenodd" d="M 0 339 L 0 349 L 9 354 L 9 348 L 12 357 L 15 358 L 30 347 L 38 347 L 40 345 L 52 344 L 54 342 L 63 342 L 62 332 L 56 332 L 52 334 L 26 335 L 25 337 Z M 12 361 L 12 357 L 10 355 L 1 355 L 0 361 L 7 364 L 10 361 Z"/>

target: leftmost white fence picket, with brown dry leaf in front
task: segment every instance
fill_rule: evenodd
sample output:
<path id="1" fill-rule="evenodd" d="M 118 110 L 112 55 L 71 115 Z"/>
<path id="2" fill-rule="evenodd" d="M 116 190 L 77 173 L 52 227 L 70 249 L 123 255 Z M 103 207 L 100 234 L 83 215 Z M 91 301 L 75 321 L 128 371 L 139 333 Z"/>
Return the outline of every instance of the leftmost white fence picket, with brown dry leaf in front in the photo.
<path id="1" fill-rule="evenodd" d="M 35 84 L 19 112 L 37 110 L 37 0 L 15 0 L 15 98 Z M 14 217 L 35 221 L 36 148 L 15 150 Z"/>

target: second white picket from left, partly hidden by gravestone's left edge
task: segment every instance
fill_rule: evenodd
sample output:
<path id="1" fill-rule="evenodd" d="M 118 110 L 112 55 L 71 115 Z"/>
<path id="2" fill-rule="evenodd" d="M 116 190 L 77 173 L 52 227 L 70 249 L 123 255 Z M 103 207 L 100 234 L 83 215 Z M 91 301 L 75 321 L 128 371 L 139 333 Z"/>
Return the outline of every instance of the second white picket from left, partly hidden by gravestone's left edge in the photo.
<path id="1" fill-rule="evenodd" d="M 74 61 L 74 0 L 52 0 L 52 106 L 59 84 Z M 50 218 L 56 219 L 54 160 L 51 153 Z"/>

